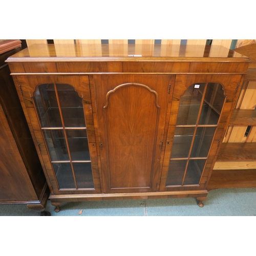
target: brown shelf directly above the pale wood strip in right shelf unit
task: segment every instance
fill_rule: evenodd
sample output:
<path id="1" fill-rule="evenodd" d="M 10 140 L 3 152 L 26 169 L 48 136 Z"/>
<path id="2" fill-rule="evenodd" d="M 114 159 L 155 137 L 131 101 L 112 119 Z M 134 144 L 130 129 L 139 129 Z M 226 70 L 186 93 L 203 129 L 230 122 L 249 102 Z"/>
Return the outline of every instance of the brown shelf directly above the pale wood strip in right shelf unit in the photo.
<path id="1" fill-rule="evenodd" d="M 217 161 L 256 161 L 256 143 L 222 143 Z"/>

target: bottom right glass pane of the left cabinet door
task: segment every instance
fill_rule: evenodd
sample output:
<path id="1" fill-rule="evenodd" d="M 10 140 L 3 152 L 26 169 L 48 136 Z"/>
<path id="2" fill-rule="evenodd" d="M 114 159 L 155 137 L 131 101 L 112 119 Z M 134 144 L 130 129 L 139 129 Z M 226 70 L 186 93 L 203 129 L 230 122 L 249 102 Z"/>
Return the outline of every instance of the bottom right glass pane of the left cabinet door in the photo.
<path id="1" fill-rule="evenodd" d="M 78 188 L 94 188 L 91 163 L 73 163 Z"/>

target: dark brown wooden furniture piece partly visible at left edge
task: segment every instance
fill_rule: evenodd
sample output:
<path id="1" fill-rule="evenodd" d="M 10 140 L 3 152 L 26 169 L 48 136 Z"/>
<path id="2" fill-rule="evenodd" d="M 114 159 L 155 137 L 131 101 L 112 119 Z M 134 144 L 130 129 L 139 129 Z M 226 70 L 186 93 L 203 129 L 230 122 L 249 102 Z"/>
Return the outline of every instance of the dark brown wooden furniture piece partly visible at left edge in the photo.
<path id="1" fill-rule="evenodd" d="M 22 50 L 20 40 L 3 40 L 0 48 L 0 204 L 27 204 L 44 211 L 49 195 L 46 178 L 5 63 Z"/>

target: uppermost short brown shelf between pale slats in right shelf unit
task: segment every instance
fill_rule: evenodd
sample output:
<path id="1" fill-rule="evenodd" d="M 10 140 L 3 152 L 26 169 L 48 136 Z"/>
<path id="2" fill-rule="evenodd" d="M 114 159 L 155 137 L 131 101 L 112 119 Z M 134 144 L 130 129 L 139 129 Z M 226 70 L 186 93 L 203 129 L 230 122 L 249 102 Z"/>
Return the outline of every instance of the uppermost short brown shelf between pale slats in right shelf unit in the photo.
<path id="1" fill-rule="evenodd" d="M 229 125 L 256 125 L 256 110 L 234 110 Z"/>

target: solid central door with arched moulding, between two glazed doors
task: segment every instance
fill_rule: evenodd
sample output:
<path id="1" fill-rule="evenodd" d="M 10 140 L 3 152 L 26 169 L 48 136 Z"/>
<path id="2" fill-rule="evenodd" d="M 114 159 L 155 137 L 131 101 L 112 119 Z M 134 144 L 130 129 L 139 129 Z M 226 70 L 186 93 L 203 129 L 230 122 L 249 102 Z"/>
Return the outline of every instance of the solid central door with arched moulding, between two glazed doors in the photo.
<path id="1" fill-rule="evenodd" d="M 95 75 L 105 193 L 156 191 L 172 76 Z"/>

